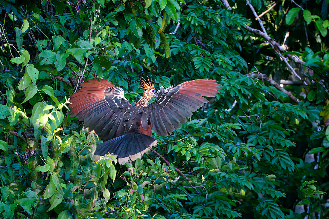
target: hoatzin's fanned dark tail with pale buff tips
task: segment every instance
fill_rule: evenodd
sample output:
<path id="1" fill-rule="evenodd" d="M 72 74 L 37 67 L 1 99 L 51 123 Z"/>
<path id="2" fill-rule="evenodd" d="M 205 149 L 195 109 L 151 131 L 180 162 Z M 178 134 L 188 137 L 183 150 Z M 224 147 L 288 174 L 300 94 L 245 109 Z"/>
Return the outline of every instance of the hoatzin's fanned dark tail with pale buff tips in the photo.
<path id="1" fill-rule="evenodd" d="M 157 140 L 150 136 L 131 132 L 98 144 L 94 154 L 104 156 L 112 153 L 117 156 L 119 164 L 126 164 L 129 160 L 141 158 L 145 152 L 157 144 Z"/>

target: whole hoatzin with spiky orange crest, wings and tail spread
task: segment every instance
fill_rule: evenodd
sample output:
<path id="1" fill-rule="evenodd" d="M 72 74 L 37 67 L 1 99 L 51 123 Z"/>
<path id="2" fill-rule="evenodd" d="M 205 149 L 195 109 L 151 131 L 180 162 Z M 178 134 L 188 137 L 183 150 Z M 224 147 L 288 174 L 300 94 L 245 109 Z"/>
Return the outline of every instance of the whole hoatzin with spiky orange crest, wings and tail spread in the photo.
<path id="1" fill-rule="evenodd" d="M 155 91 L 154 81 L 141 79 L 144 95 L 133 106 L 120 87 L 107 80 L 81 83 L 70 97 L 72 115 L 105 142 L 97 145 L 95 155 L 113 153 L 119 164 L 136 160 L 157 145 L 151 132 L 165 136 L 179 128 L 198 108 L 208 102 L 202 96 L 215 97 L 215 80 L 196 79 Z M 149 104 L 152 97 L 157 99 Z"/>

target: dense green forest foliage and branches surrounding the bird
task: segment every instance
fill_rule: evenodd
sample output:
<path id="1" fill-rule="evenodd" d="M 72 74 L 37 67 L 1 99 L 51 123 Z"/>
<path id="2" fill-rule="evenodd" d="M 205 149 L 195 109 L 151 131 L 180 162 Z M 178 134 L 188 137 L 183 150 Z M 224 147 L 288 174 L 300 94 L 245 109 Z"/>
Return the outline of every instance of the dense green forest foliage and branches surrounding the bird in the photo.
<path id="1" fill-rule="evenodd" d="M 0 217 L 328 218 L 328 3 L 0 0 Z M 221 90 L 155 136 L 168 163 L 95 161 L 68 97 L 147 76 Z"/>

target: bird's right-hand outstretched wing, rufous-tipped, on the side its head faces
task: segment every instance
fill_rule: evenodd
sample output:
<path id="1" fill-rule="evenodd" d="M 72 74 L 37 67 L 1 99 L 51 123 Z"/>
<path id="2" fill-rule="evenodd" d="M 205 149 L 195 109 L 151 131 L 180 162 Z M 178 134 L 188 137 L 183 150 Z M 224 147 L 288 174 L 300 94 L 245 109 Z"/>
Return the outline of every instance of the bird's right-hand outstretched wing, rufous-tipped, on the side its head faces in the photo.
<path id="1" fill-rule="evenodd" d="M 152 129 L 157 135 L 165 136 L 187 122 L 192 113 L 219 92 L 215 80 L 196 79 L 170 86 L 158 91 L 159 97 L 148 106 Z"/>

